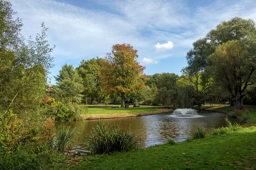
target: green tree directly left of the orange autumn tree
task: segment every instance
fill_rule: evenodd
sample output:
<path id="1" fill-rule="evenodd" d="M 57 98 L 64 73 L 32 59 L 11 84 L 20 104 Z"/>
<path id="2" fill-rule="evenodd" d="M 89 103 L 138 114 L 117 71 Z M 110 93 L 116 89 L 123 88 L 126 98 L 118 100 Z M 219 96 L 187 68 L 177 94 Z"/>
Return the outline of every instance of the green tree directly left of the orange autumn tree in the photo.
<path id="1" fill-rule="evenodd" d="M 101 99 L 105 95 L 100 77 L 101 62 L 104 62 L 104 59 L 99 57 L 87 61 L 83 60 L 77 68 L 83 79 L 84 91 L 82 94 L 84 97 L 90 98 L 90 105 L 95 99 Z"/>

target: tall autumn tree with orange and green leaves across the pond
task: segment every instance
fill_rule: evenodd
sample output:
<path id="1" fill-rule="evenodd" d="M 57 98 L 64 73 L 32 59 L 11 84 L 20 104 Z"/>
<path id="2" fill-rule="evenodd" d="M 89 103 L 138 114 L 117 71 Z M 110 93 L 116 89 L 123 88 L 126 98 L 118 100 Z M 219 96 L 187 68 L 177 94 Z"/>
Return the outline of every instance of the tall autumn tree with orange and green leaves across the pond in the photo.
<path id="1" fill-rule="evenodd" d="M 137 62 L 137 50 L 130 44 L 116 44 L 102 63 L 102 85 L 108 93 L 121 96 L 121 107 L 125 97 L 140 92 L 145 85 L 145 67 Z"/>

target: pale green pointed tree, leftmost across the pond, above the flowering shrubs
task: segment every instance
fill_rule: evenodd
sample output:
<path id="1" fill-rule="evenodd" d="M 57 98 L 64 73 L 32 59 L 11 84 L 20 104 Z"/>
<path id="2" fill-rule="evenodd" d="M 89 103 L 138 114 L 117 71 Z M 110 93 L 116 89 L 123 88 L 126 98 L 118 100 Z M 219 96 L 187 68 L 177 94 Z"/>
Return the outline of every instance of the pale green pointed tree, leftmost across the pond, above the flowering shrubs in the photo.
<path id="1" fill-rule="evenodd" d="M 78 71 L 74 70 L 73 65 L 65 63 L 59 75 L 55 76 L 57 81 L 57 93 L 62 98 L 69 98 L 71 101 L 80 103 L 83 89 L 82 78 Z"/>

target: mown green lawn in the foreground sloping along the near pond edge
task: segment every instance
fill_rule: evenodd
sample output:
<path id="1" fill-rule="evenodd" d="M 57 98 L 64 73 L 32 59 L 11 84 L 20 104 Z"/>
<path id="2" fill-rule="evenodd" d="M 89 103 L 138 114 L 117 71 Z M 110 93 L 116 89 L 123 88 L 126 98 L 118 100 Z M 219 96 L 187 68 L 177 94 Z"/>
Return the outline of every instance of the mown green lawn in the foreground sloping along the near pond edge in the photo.
<path id="1" fill-rule="evenodd" d="M 163 144 L 127 153 L 105 154 L 70 169 L 255 169 L 255 141 L 256 127 L 250 127 L 226 136 L 209 136 L 175 145 Z"/>

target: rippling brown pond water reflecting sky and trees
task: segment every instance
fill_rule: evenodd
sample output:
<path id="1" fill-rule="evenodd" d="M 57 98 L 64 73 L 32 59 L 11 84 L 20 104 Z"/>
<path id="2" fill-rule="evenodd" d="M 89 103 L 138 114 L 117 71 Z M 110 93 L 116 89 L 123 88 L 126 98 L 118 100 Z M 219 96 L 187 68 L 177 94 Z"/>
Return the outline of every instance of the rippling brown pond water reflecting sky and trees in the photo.
<path id="1" fill-rule="evenodd" d="M 176 116 L 173 113 L 162 113 L 148 116 L 102 119 L 105 124 L 119 125 L 123 129 L 131 128 L 132 133 L 137 134 L 139 147 L 148 147 L 155 144 L 166 143 L 169 139 L 176 142 L 182 142 L 193 136 L 196 126 L 200 126 L 209 131 L 212 128 L 226 126 L 224 120 L 225 114 L 210 111 L 197 111 L 196 116 Z M 230 118 L 231 122 L 238 122 L 237 119 Z M 85 120 L 74 122 L 56 122 L 55 126 L 58 130 L 63 125 L 71 126 L 79 133 L 75 137 L 73 151 L 87 153 L 89 148 L 83 144 L 83 137 L 89 136 L 93 127 L 99 120 Z M 238 122 L 240 123 L 240 122 Z"/>

